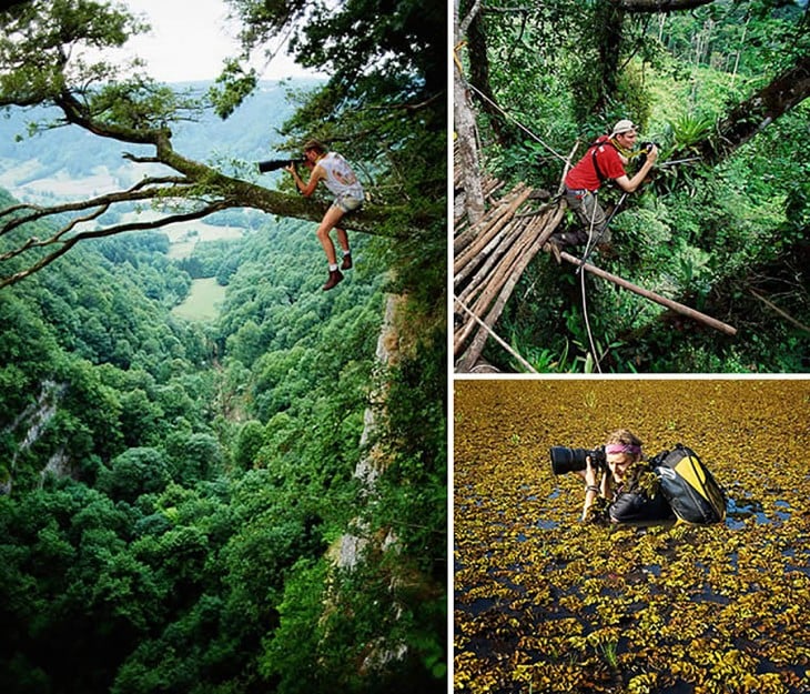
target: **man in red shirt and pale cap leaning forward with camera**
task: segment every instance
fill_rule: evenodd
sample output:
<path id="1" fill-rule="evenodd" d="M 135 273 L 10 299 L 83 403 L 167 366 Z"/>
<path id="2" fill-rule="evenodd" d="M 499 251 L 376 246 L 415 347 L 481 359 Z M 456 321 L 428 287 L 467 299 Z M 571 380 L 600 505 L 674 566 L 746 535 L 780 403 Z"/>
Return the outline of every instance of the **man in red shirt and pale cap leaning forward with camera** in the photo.
<path id="1" fill-rule="evenodd" d="M 658 158 L 658 148 L 655 145 L 650 148 L 644 165 L 629 178 L 625 165 L 629 161 L 637 138 L 638 129 L 632 121 L 620 120 L 614 125 L 612 132 L 598 138 L 585 157 L 568 172 L 565 177 L 565 199 L 585 229 L 555 234 L 551 237 L 554 244 L 576 245 L 599 239 L 597 248 L 603 251 L 609 249 L 610 230 L 605 228 L 607 218 L 599 205 L 596 192 L 608 180 L 616 181 L 627 193 L 634 192 L 641 184 Z"/>

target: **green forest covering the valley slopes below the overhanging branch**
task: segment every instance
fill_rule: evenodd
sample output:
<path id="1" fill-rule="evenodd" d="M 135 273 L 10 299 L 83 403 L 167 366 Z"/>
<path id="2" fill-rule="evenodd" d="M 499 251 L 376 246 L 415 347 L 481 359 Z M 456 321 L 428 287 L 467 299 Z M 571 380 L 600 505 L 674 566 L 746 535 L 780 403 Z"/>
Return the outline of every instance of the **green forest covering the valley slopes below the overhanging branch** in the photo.
<path id="1" fill-rule="evenodd" d="M 401 579 L 396 614 L 373 606 L 391 604 L 393 566 L 324 585 L 368 493 L 353 473 L 384 276 L 363 269 L 367 244 L 325 294 L 312 229 L 270 222 L 219 254 L 237 269 L 211 325 L 170 313 L 191 279 L 168 247 L 156 232 L 104 240 L 0 292 L 4 691 L 374 691 L 360 673 L 391 647 L 374 645 L 377 621 L 419 653 L 393 682 L 422 672 L 431 686 L 443 604 L 415 576 L 441 574 L 441 556 Z M 441 418 L 443 394 L 421 396 Z M 409 489 L 379 487 L 378 513 L 435 551 L 428 450 L 403 462 Z"/>

